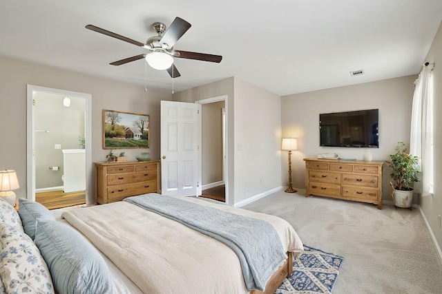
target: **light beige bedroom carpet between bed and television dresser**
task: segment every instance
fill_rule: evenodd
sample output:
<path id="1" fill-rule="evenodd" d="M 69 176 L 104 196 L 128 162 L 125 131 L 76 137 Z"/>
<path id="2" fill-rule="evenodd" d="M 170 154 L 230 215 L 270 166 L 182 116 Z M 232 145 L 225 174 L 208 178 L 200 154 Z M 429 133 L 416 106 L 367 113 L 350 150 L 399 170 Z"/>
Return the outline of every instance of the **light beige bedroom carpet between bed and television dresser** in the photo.
<path id="1" fill-rule="evenodd" d="M 278 191 L 242 208 L 287 220 L 304 244 L 345 258 L 333 293 L 442 293 L 442 262 L 419 209 Z"/>

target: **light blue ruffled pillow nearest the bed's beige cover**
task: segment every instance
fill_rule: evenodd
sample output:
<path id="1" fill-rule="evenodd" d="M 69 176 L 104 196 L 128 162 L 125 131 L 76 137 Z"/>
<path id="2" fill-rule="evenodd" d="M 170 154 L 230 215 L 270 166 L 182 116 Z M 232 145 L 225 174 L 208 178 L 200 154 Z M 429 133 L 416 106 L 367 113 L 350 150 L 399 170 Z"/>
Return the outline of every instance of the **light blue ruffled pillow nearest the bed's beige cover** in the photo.
<path id="1" fill-rule="evenodd" d="M 38 220 L 35 244 L 58 293 L 112 293 L 111 271 L 102 255 L 72 227 Z"/>

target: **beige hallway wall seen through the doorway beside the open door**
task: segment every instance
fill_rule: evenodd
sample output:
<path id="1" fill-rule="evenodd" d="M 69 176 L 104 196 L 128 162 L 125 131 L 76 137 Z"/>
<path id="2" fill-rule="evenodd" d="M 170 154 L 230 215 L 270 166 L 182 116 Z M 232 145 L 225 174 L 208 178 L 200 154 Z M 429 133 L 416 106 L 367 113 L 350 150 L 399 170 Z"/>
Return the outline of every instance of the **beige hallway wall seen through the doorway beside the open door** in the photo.
<path id="1" fill-rule="evenodd" d="M 202 105 L 202 185 L 222 182 L 222 109 L 225 102 Z M 204 187 L 203 187 L 204 189 Z"/>

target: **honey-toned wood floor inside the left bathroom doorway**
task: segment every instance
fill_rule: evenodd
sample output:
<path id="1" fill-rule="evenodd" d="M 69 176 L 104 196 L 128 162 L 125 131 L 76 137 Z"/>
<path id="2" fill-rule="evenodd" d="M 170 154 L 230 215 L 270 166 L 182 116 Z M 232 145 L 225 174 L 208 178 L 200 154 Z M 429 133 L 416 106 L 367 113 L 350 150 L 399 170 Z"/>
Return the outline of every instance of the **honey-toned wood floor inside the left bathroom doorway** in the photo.
<path id="1" fill-rule="evenodd" d="M 35 201 L 47 209 L 86 204 L 86 191 L 64 193 L 63 190 L 35 193 Z"/>

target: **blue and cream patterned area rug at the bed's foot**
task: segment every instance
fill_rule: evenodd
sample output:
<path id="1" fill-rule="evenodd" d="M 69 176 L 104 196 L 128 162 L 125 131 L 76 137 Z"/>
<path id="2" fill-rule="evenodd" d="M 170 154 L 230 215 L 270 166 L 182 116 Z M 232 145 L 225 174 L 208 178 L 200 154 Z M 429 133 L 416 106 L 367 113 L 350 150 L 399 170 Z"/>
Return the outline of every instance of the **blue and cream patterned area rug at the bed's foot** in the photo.
<path id="1" fill-rule="evenodd" d="M 276 294 L 332 293 L 344 258 L 304 245 L 304 252 L 294 257 L 293 273 L 276 289 Z"/>

